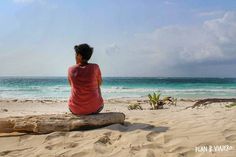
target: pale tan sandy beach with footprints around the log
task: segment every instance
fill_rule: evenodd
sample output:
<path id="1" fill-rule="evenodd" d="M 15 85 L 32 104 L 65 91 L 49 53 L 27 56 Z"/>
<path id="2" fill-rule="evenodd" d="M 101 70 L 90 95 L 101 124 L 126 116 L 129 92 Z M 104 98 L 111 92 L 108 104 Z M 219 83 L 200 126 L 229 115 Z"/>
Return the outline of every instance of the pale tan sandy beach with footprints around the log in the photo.
<path id="1" fill-rule="evenodd" d="M 124 125 L 42 135 L 1 133 L 0 156 L 235 156 L 236 108 L 213 103 L 186 109 L 194 102 L 181 100 L 177 106 L 150 110 L 142 98 L 106 100 L 102 112 L 125 113 Z M 132 103 L 144 110 L 128 110 Z M 0 101 L 1 118 L 66 112 L 66 101 Z"/>

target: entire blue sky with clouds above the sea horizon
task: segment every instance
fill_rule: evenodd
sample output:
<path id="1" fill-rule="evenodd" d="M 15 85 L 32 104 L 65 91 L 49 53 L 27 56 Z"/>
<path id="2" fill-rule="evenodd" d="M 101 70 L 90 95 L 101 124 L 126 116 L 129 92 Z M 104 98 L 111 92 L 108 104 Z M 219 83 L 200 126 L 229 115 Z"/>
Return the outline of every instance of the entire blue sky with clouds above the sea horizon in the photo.
<path id="1" fill-rule="evenodd" d="M 2 0 L 0 76 L 236 77 L 235 0 Z"/>

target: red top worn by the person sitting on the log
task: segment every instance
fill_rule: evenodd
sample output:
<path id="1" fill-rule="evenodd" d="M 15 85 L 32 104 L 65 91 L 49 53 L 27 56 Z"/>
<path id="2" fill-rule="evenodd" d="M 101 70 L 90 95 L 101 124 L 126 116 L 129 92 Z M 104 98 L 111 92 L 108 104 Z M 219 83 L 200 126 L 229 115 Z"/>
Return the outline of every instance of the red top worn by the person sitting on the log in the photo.
<path id="1" fill-rule="evenodd" d="M 97 64 L 70 67 L 68 79 L 71 84 L 69 108 L 74 114 L 91 114 L 103 105 L 99 86 L 102 77 Z"/>

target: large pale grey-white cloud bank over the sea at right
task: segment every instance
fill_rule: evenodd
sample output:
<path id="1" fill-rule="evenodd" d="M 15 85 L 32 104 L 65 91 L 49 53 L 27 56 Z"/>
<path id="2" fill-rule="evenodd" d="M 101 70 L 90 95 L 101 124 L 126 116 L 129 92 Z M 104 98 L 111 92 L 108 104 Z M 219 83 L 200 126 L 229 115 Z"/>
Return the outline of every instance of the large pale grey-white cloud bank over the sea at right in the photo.
<path id="1" fill-rule="evenodd" d="M 139 69 L 139 75 L 147 71 L 149 74 L 176 75 L 179 67 L 187 67 L 182 71 L 187 74 L 209 64 L 228 66 L 236 60 L 236 12 L 225 12 L 222 17 L 207 20 L 197 27 L 167 26 L 136 34 L 132 41 L 121 45 L 113 44 L 114 54 L 120 52 L 112 62 L 122 61 L 126 73 Z M 108 49 L 112 55 L 111 47 Z M 117 71 L 119 66 L 115 68 Z M 236 64 L 234 66 L 236 68 Z M 204 72 L 199 71 L 198 75 L 200 73 Z M 216 73 L 218 76 L 221 71 Z"/>

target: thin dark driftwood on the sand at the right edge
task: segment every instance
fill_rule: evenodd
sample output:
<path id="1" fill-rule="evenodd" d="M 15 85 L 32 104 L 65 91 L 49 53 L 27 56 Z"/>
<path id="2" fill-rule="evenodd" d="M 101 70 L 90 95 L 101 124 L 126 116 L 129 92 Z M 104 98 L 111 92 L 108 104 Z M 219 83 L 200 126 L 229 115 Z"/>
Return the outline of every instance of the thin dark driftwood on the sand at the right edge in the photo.
<path id="1" fill-rule="evenodd" d="M 218 102 L 236 102 L 236 98 L 230 98 L 230 99 L 219 99 L 219 98 L 202 99 L 202 100 L 198 100 L 192 106 L 186 107 L 186 109 L 187 108 L 195 108 L 195 107 L 199 107 L 199 106 L 206 106 L 208 104 L 218 103 Z"/>

